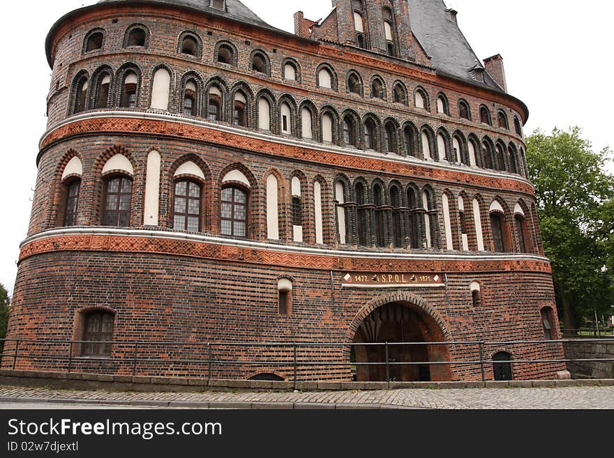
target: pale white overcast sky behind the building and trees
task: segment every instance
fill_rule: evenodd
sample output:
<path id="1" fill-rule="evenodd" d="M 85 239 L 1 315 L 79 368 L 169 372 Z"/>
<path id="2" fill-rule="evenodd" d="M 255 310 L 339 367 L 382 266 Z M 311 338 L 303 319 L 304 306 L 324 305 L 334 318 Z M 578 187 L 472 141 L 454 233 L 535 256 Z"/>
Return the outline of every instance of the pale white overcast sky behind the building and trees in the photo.
<path id="1" fill-rule="evenodd" d="M 331 0 L 243 1 L 269 24 L 291 32 L 295 11 L 317 20 L 331 10 Z M 0 283 L 9 291 L 15 283 L 19 244 L 27 233 L 38 140 L 47 122 L 45 98 L 51 70 L 45 58 L 45 36 L 61 15 L 93 3 L 3 3 Z M 594 149 L 614 146 L 614 2 L 454 0 L 447 4 L 458 10 L 458 24 L 480 59 L 497 53 L 503 56 L 509 93 L 530 109 L 526 133 L 578 125 Z M 609 169 L 614 171 L 614 165 Z"/>

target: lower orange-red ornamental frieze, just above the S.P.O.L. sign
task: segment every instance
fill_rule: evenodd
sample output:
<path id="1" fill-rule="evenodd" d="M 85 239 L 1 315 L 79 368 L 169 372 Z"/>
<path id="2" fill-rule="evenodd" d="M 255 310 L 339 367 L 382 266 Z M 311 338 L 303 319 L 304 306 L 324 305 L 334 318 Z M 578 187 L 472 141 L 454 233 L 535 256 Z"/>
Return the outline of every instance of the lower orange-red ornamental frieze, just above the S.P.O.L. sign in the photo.
<path id="1" fill-rule="evenodd" d="M 237 261 L 265 266 L 314 270 L 353 270 L 364 272 L 411 270 L 437 273 L 524 271 L 551 273 L 551 266 L 547 261 L 528 259 L 370 259 L 366 257 L 337 257 L 324 254 L 283 252 L 260 247 L 216 245 L 207 242 L 172 238 L 90 234 L 50 236 L 49 238 L 26 243 L 20 253 L 20 262 L 36 254 L 59 251 L 167 254 L 199 259 L 214 259 L 217 261 Z"/>

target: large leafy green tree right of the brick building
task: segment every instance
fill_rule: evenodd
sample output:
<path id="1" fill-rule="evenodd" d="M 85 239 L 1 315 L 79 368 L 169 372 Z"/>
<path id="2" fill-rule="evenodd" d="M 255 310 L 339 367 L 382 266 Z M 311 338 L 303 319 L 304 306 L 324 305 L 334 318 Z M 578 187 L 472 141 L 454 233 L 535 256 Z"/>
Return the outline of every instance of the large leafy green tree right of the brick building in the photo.
<path id="1" fill-rule="evenodd" d="M 551 259 L 564 329 L 610 314 L 614 287 L 609 279 L 613 251 L 605 228 L 614 177 L 604 172 L 608 148 L 592 151 L 577 127 L 527 137 L 527 162 L 537 195 L 537 213 L 546 256 Z M 609 203 L 608 203 L 609 202 Z M 610 216 L 608 216 L 610 215 Z"/>

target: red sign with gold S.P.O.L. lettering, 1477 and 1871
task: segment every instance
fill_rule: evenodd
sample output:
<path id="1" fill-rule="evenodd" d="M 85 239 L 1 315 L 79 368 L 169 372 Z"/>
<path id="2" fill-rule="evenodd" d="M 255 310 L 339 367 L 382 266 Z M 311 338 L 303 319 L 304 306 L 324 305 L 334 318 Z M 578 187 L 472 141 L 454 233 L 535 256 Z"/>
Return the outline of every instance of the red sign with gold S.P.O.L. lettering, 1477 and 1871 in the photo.
<path id="1" fill-rule="evenodd" d="M 416 272 L 347 272 L 343 273 L 343 288 L 436 288 L 445 287 L 443 273 Z"/>

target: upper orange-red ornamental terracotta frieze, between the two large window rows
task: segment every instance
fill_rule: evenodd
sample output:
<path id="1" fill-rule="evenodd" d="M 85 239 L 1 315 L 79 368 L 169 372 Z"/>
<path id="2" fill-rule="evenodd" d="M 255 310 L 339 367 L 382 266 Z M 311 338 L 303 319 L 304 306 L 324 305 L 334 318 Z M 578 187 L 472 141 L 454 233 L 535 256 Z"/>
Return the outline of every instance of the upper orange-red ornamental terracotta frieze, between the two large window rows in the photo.
<path id="1" fill-rule="evenodd" d="M 406 164 L 382 158 L 367 158 L 359 155 L 345 155 L 330 151 L 320 151 L 303 146 L 278 144 L 264 139 L 244 137 L 232 132 L 222 132 L 199 125 L 181 122 L 161 121 L 154 119 L 131 119 L 121 116 L 112 118 L 94 118 L 74 121 L 50 132 L 41 144 L 41 154 L 45 148 L 60 142 L 62 139 L 78 135 L 95 133 L 133 134 L 174 137 L 175 139 L 190 139 L 195 142 L 215 144 L 248 150 L 253 153 L 283 156 L 285 158 L 327 164 L 344 169 L 360 169 L 377 171 L 394 176 L 425 178 L 448 183 L 464 183 L 479 188 L 500 189 L 533 195 L 533 188 L 528 183 L 507 179 L 504 177 L 481 176 L 468 174 L 459 170 L 444 170 L 419 165 Z M 40 158 L 39 158 L 40 159 Z"/>

